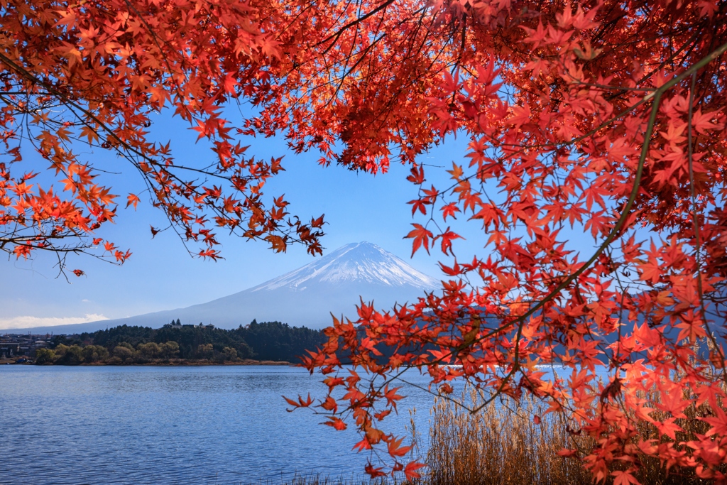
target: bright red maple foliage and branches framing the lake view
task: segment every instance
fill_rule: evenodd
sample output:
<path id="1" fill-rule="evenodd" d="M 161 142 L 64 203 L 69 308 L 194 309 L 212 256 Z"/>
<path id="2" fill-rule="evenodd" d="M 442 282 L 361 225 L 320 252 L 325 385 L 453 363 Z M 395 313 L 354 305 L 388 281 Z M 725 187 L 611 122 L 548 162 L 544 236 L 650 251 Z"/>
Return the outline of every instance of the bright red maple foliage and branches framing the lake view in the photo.
<path id="1" fill-rule="evenodd" d="M 418 474 L 385 432 L 395 377 L 417 366 L 445 396 L 464 379 L 488 399 L 542 398 L 595 439 L 583 459 L 599 481 L 635 483 L 639 453 L 724 480 L 726 9 L 714 0 L 1 0 L 0 247 L 17 257 L 128 256 L 94 238 L 116 199 L 76 145 L 117 151 L 204 257 L 218 256 L 220 228 L 276 251 L 294 241 L 321 249 L 321 217 L 304 223 L 284 199 L 262 198 L 281 160 L 248 158 L 237 135 L 281 135 L 295 151 L 320 151 L 321 164 L 367 172 L 409 164 L 419 197 L 408 237 L 414 252 L 443 253 L 446 281 L 414 305 L 362 303 L 358 320 L 334 320 L 306 362 L 331 393 L 290 402 L 318 406 L 337 429 L 353 420 L 358 449 L 384 446 L 393 465 L 370 463 L 372 476 Z M 236 100 L 253 109 L 233 126 L 223 108 Z M 164 107 L 212 143 L 214 166 L 187 167 L 148 139 L 150 114 Z M 448 134 L 470 137 L 470 149 L 449 185 L 435 187 L 417 156 Z M 63 188 L 31 182 L 23 140 Z M 454 220 L 481 229 L 480 254 L 456 251 Z M 571 249 L 569 231 L 594 248 Z M 398 350 L 382 363 L 379 344 Z M 433 350 L 410 350 L 425 345 Z M 356 369 L 341 366 L 344 355 Z M 608 382 L 595 371 L 603 362 Z M 710 411 L 687 441 L 689 406 Z"/>

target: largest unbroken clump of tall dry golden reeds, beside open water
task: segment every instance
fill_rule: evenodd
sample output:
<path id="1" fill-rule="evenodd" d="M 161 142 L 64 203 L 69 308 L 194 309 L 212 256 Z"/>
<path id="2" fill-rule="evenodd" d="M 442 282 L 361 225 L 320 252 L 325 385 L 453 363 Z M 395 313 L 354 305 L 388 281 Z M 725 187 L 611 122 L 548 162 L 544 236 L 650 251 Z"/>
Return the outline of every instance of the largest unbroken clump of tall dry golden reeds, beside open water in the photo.
<path id="1" fill-rule="evenodd" d="M 474 392 L 469 398 L 478 401 Z M 558 450 L 570 447 L 566 422 L 549 414 L 539 425 L 535 401 L 504 398 L 477 414 L 438 399 L 432 410 L 427 484 L 558 485 L 590 484 L 590 474 L 577 460 Z"/>

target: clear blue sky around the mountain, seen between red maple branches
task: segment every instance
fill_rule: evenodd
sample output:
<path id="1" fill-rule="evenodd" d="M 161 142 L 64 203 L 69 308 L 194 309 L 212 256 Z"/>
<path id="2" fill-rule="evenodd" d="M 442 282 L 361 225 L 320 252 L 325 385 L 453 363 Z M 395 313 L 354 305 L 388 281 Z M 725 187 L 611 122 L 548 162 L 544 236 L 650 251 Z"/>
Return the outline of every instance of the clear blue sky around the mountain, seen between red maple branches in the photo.
<path id="1" fill-rule="evenodd" d="M 160 116 L 151 130 L 156 140 L 171 140 L 177 164 L 201 165 L 214 156 L 204 143 L 195 143 L 196 132 L 179 120 Z M 286 150 L 283 141 L 274 138 L 250 138 L 244 143 L 252 145 L 248 154 L 285 155 L 286 172 L 273 177 L 266 196 L 284 193 L 292 204 L 290 212 L 302 218 L 325 214 L 329 224 L 325 226 L 323 244 L 327 249 L 369 241 L 424 273 L 440 276 L 437 258 L 427 257 L 422 251 L 410 260 L 411 240 L 403 239 L 412 222 L 411 206 L 406 201 L 416 196 L 416 188 L 406 181 L 409 168 L 393 164 L 387 174 L 373 176 L 342 167 L 321 167 L 316 162 L 318 153 L 295 155 Z M 443 167 L 429 169 L 427 178 L 436 176 L 441 181 L 447 177 L 444 168 L 450 168 L 452 161 L 462 163 L 466 147 L 466 137 L 451 137 L 422 155 L 423 162 Z M 96 167 L 115 172 L 103 175 L 103 183 L 113 187 L 119 201 L 125 201 L 129 192 L 142 190 L 137 175 L 124 161 L 108 151 L 93 153 L 84 148 L 76 150 Z M 34 153 L 24 155 L 23 164 L 27 163 L 28 168 L 45 167 Z M 69 268 L 82 268 L 87 274 L 80 278 L 71 275 L 69 284 L 63 277 L 56 278 L 57 270 L 52 267 L 55 261 L 49 254 L 28 261 L 15 257 L 0 260 L 0 329 L 121 318 L 185 307 L 260 284 L 312 260 L 297 246 L 285 254 L 275 254 L 260 242 L 228 236 L 220 238 L 225 260 L 194 259 L 171 231 L 151 239 L 149 226 L 164 226 L 161 212 L 148 204 L 140 204 L 137 211 L 123 206 L 119 206 L 116 224 L 98 233 L 121 248 L 131 249 L 132 257 L 121 267 L 76 257 L 69 261 Z M 472 239 L 460 244 L 471 246 L 469 254 L 476 252 L 478 245 L 476 238 Z"/>

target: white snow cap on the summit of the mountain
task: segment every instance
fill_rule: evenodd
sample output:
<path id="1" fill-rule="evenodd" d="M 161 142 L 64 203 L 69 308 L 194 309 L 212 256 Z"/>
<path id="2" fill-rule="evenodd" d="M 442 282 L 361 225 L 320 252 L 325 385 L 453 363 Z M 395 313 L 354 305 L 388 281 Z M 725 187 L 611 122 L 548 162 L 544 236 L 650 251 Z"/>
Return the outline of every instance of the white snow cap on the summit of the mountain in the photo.
<path id="1" fill-rule="evenodd" d="M 363 241 L 346 244 L 326 254 L 319 260 L 293 270 L 259 286 L 251 292 L 287 287 L 304 291 L 311 284 L 366 283 L 383 286 L 414 286 L 431 290 L 437 281 L 427 276 L 401 258 L 381 249 L 376 244 Z"/>

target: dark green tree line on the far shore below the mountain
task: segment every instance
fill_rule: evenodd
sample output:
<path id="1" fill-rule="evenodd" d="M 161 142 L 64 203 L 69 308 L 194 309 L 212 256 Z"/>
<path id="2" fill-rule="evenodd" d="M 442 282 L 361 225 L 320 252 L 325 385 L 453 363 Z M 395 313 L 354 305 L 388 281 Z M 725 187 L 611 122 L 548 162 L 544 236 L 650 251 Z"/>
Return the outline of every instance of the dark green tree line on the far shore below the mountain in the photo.
<path id="1" fill-rule="evenodd" d="M 174 322 L 160 329 L 122 325 L 56 335 L 28 361 L 39 365 L 284 364 L 300 361 L 299 356 L 325 338 L 321 330 L 278 321 L 252 321 L 236 329 Z"/>

